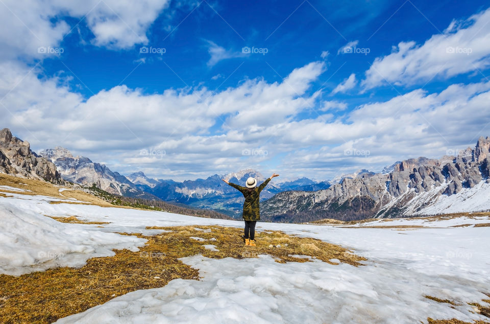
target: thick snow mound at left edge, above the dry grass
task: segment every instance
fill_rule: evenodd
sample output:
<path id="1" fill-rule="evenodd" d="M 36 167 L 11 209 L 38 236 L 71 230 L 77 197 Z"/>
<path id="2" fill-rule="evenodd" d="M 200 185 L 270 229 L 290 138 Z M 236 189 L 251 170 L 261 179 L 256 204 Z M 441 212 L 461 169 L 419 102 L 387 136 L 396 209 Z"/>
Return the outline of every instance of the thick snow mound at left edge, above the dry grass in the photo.
<path id="1" fill-rule="evenodd" d="M 138 251 L 146 240 L 103 233 L 92 226 L 58 222 L 2 201 L 0 273 L 20 275 L 57 266 L 80 267 L 93 257 L 113 256 L 112 249 Z"/>

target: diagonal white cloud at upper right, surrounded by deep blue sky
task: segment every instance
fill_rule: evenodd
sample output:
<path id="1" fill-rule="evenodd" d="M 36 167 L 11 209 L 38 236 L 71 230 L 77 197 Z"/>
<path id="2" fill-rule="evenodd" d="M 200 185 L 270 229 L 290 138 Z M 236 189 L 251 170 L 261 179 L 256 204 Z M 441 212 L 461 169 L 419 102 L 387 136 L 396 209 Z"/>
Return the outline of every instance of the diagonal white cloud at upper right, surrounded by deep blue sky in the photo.
<path id="1" fill-rule="evenodd" d="M 424 44 L 400 42 L 391 54 L 378 57 L 361 85 L 371 89 L 386 83 L 411 85 L 434 77 L 447 79 L 490 66 L 490 9 L 464 21 L 453 21 L 444 34 Z"/>

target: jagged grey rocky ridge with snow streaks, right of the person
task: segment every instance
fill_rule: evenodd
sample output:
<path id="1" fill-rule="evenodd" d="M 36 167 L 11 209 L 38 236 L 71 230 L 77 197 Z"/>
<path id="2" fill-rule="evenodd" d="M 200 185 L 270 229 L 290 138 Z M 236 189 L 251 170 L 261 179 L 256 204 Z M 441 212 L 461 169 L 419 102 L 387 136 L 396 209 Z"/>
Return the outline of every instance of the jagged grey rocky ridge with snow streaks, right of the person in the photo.
<path id="1" fill-rule="evenodd" d="M 480 137 L 474 149 L 463 150 L 457 156 L 408 159 L 392 169 L 384 174 L 344 178 L 326 190 L 312 193 L 279 193 L 262 203 L 261 215 L 266 220 L 287 221 L 296 214 L 302 221 L 309 221 L 437 213 L 432 206 L 442 204 L 448 197 L 455 202 L 464 195 L 473 199 L 468 193 L 474 192 L 476 186 L 490 194 L 490 137 Z M 488 201 L 486 205 L 475 202 L 475 208 L 490 210 Z M 445 212 L 451 210 L 451 206 L 445 207 Z"/>

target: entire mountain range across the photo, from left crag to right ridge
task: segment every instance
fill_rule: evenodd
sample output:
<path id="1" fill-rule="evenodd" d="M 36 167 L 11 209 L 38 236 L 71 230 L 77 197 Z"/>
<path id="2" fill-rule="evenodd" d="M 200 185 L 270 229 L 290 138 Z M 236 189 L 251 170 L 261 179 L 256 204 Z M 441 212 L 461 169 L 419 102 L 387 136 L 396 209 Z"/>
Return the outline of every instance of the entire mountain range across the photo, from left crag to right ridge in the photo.
<path id="1" fill-rule="evenodd" d="M 125 177 L 88 157 L 62 147 L 37 155 L 28 142 L 0 131 L 0 172 L 53 183 L 92 186 L 131 198 L 163 200 L 209 209 L 239 218 L 243 196 L 221 179 L 243 185 L 248 177 L 265 180 L 247 169 L 206 179 L 152 179 L 143 172 Z M 329 181 L 274 179 L 261 195 L 261 218 L 305 222 L 322 218 L 357 220 L 490 210 L 490 137 L 457 156 L 398 161 L 381 173 L 359 170 Z"/>

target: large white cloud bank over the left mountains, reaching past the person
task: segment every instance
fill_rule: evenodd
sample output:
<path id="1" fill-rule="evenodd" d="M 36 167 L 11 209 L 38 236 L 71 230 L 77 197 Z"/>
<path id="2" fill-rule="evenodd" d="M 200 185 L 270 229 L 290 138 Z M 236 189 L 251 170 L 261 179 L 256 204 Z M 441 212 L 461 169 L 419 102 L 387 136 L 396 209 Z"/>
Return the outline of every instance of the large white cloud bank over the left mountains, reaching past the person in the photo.
<path id="1" fill-rule="evenodd" d="M 11 128 L 34 149 L 65 146 L 95 161 L 109 161 L 122 173 L 138 168 L 133 164 L 169 175 L 175 170 L 228 172 L 268 158 L 250 158 L 242 151 L 270 150 L 264 147 L 267 137 L 274 140 L 276 129 L 285 130 L 294 115 L 314 105 L 318 94 L 306 91 L 323 71 L 324 63 L 312 62 L 282 82 L 247 80 L 215 94 L 206 88 L 183 88 L 145 95 L 121 85 L 84 100 L 60 77 L 40 80 L 40 71 L 28 73 L 20 63 L 2 63 L 0 98 L 7 95 L 1 103 L 8 111 L 0 105 L 0 119 L 2 127 Z M 16 83 L 19 86 L 9 92 Z M 222 120 L 219 134 L 211 132 Z M 150 148 L 167 154 L 139 154 Z M 279 153 L 277 148 L 273 152 Z"/>

